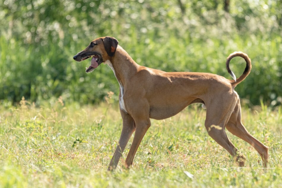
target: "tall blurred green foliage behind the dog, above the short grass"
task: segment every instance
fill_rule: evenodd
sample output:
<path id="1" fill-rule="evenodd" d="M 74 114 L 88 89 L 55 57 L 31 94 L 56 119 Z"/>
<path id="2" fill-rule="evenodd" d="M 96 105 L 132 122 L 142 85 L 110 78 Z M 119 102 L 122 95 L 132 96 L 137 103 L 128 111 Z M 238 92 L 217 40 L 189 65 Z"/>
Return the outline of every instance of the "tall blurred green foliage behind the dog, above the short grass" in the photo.
<path id="1" fill-rule="evenodd" d="M 249 106 L 281 105 L 280 0 L 0 0 L 0 22 L 1 101 L 117 98 L 108 66 L 86 74 L 90 60 L 72 59 L 93 39 L 114 36 L 140 65 L 228 79 L 227 56 L 246 52 L 253 68 L 236 91 Z M 232 60 L 237 77 L 244 68 Z"/>

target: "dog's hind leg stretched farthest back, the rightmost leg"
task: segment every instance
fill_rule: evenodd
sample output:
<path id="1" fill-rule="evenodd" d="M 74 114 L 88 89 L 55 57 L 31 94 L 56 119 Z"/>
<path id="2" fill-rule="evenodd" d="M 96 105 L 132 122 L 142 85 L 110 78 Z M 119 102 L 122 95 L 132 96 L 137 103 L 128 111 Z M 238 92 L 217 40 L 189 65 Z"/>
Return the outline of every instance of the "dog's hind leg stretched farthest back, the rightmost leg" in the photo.
<path id="1" fill-rule="evenodd" d="M 237 101 L 235 109 L 231 114 L 229 121 L 227 122 L 226 128 L 227 130 L 230 131 L 230 133 L 234 134 L 235 136 L 238 136 L 239 138 L 251 144 L 251 146 L 253 146 L 256 149 L 256 151 L 259 153 L 259 155 L 262 157 L 263 165 L 265 168 L 267 168 L 268 148 L 260 141 L 258 141 L 256 138 L 254 138 L 242 124 L 241 106 L 239 100 Z"/>

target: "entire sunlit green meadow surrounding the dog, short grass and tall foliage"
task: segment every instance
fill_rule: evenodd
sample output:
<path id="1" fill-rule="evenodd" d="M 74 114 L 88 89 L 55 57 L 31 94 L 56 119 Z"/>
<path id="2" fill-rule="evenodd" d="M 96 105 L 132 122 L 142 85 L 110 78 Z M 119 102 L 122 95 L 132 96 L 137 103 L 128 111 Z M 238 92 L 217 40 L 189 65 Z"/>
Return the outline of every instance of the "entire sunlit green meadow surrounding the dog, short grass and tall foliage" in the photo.
<path id="1" fill-rule="evenodd" d="M 0 0 L 0 187 L 281 187 L 281 9 L 271 0 Z M 252 71 L 235 90 L 243 124 L 269 147 L 268 168 L 227 131 L 247 157 L 234 164 L 195 104 L 152 120 L 133 166 L 106 171 L 122 127 L 119 85 L 108 66 L 86 74 L 90 61 L 73 60 L 101 36 L 142 66 L 227 79 L 227 56 L 247 53 Z M 237 77 L 245 66 L 230 63 Z"/>

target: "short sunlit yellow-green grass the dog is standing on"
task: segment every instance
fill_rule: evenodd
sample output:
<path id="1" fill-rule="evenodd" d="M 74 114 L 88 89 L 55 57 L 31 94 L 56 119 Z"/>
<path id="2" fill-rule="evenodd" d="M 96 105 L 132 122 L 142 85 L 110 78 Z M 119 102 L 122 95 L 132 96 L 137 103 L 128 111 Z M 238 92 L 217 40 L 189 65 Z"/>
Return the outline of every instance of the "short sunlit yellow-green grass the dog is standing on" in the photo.
<path id="1" fill-rule="evenodd" d="M 282 108 L 243 108 L 248 131 L 269 146 L 269 168 L 259 154 L 227 132 L 247 157 L 244 168 L 204 127 L 193 105 L 166 120 L 152 120 L 133 167 L 106 171 L 122 119 L 114 99 L 98 106 L 67 106 L 62 98 L 36 106 L 22 99 L 0 106 L 0 187 L 279 187 L 282 184 Z M 128 153 L 132 138 L 124 152 Z M 188 173 L 187 173 L 188 172 Z M 192 175 L 191 175 L 192 174 Z"/>

